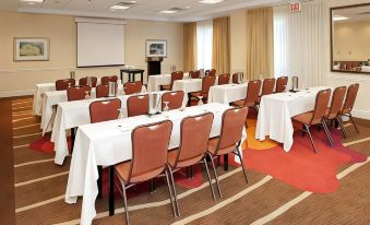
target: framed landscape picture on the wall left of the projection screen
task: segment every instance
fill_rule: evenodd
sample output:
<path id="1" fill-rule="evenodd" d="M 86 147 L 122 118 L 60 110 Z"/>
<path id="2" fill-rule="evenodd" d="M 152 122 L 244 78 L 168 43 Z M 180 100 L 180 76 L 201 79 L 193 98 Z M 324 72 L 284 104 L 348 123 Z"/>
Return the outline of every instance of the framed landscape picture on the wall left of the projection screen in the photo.
<path id="1" fill-rule="evenodd" d="M 14 37 L 14 61 L 48 61 L 49 38 Z"/>

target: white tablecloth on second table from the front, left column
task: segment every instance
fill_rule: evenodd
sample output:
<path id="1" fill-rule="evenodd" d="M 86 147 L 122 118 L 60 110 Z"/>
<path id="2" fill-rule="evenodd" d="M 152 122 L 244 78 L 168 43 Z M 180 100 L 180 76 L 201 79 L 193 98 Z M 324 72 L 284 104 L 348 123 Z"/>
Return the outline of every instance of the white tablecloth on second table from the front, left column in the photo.
<path id="1" fill-rule="evenodd" d="M 155 92 L 162 95 L 165 92 Z M 122 118 L 128 116 L 127 112 L 127 100 L 132 95 L 121 95 L 118 98 L 121 100 L 121 109 L 123 115 Z M 84 99 L 84 100 L 74 100 L 74 102 L 63 102 L 58 104 L 57 115 L 52 127 L 51 141 L 55 143 L 55 163 L 62 165 L 65 156 L 69 155 L 68 152 L 68 142 L 67 142 L 67 132 L 71 128 L 76 128 L 82 125 L 88 125 L 91 122 L 89 118 L 89 104 L 96 100 L 103 100 L 108 98 L 94 98 L 94 99 Z M 158 98 L 160 100 L 160 97 Z M 156 104 L 158 110 L 160 104 Z"/>

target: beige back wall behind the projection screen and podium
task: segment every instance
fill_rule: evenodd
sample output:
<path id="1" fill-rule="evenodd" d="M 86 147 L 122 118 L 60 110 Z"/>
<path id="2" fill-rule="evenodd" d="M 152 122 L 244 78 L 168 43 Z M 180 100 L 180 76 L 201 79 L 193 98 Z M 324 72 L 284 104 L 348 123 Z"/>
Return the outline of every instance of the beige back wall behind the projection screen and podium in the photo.
<path id="1" fill-rule="evenodd" d="M 168 58 L 163 73 L 170 66 L 182 70 L 182 24 L 128 20 L 126 25 L 126 63 L 146 70 L 145 39 L 167 39 Z M 119 74 L 118 67 L 75 69 L 76 28 L 74 17 L 26 13 L 0 13 L 0 97 L 29 94 L 36 83 L 84 75 Z M 13 61 L 13 37 L 50 37 L 50 60 Z"/>

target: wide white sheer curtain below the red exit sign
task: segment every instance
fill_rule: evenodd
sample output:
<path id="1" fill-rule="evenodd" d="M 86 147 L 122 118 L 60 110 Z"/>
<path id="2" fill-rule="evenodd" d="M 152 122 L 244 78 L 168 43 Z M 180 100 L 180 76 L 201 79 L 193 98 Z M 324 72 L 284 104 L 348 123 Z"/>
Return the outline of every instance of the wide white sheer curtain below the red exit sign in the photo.
<path id="1" fill-rule="evenodd" d="M 275 76 L 296 75 L 300 86 L 325 83 L 326 27 L 329 10 L 324 0 L 302 2 L 301 12 L 289 5 L 274 8 Z"/>

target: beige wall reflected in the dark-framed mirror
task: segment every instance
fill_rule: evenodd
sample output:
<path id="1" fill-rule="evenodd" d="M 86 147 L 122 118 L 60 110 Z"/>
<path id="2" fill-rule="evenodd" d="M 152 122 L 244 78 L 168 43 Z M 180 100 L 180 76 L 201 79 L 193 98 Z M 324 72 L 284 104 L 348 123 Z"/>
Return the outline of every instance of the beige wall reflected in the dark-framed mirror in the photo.
<path id="1" fill-rule="evenodd" d="M 341 22 L 334 25 L 334 61 L 370 59 L 370 21 Z"/>

